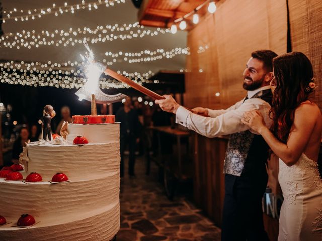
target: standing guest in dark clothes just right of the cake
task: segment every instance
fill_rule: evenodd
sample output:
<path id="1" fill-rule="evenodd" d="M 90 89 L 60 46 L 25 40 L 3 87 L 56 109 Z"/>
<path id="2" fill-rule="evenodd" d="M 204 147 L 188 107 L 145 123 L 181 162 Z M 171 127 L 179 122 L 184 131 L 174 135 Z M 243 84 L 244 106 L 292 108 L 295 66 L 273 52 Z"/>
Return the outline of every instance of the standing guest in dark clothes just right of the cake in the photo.
<path id="1" fill-rule="evenodd" d="M 135 147 L 139 142 L 141 132 L 141 123 L 138 118 L 136 110 L 133 108 L 132 100 L 127 97 L 124 102 L 124 107 L 120 108 L 116 115 L 115 121 L 121 122 L 120 124 L 120 155 L 121 166 L 120 175 L 124 176 L 124 151 L 126 146 L 129 148 L 129 176 L 134 177 L 134 164 L 135 164 Z"/>

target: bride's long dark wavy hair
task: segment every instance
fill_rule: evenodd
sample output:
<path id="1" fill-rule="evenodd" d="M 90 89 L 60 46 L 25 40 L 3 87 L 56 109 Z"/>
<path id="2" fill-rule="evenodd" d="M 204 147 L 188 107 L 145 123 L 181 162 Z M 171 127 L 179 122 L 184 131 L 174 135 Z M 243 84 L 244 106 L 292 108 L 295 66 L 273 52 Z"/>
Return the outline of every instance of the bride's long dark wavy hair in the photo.
<path id="1" fill-rule="evenodd" d="M 301 52 L 291 52 L 273 59 L 276 89 L 273 93 L 270 117 L 275 136 L 283 143 L 294 121 L 295 109 L 308 99 L 308 85 L 313 77 L 310 60 Z"/>

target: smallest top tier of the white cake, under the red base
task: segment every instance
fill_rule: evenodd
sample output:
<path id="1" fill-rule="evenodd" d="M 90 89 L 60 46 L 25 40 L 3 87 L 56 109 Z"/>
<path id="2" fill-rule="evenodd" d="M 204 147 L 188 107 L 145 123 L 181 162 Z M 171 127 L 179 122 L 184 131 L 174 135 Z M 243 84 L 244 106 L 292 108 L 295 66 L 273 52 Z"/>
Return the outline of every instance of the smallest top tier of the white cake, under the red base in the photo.
<path id="1" fill-rule="evenodd" d="M 120 123 L 69 124 L 67 141 L 73 142 L 77 136 L 84 136 L 91 143 L 119 142 Z"/>

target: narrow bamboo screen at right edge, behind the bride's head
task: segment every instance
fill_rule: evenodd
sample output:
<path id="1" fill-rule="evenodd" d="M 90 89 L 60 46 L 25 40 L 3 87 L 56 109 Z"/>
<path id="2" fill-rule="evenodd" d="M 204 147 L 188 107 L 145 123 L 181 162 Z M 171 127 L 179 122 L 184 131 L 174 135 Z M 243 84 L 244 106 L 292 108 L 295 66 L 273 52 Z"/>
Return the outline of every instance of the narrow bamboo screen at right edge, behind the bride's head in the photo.
<path id="1" fill-rule="evenodd" d="M 312 62 L 316 78 L 315 100 L 322 110 L 322 4 L 320 0 L 288 0 L 292 51 Z"/>

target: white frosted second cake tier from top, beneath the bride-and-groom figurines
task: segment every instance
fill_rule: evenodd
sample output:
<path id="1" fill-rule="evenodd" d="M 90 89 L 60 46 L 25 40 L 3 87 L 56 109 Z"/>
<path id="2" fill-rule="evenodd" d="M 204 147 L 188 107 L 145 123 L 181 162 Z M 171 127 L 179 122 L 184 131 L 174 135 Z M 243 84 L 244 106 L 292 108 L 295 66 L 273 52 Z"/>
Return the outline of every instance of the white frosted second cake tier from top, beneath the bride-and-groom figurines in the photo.
<path id="1" fill-rule="evenodd" d="M 63 146 L 28 144 L 28 173 L 51 180 L 57 172 L 70 180 L 116 172 L 120 166 L 119 142 Z"/>

